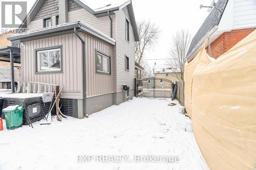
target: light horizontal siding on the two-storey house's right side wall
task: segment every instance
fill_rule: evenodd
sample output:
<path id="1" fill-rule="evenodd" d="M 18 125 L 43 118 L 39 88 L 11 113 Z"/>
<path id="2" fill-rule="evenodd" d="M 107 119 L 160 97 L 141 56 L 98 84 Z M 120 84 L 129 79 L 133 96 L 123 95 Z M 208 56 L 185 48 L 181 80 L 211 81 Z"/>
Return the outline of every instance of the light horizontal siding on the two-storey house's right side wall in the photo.
<path id="1" fill-rule="evenodd" d="M 130 21 L 130 41 L 125 39 L 125 19 L 130 18 L 127 7 L 116 11 L 116 91 L 120 92 L 122 84 L 127 84 L 134 89 L 135 71 L 135 38 Z M 125 55 L 130 59 L 130 70 L 125 71 Z"/>

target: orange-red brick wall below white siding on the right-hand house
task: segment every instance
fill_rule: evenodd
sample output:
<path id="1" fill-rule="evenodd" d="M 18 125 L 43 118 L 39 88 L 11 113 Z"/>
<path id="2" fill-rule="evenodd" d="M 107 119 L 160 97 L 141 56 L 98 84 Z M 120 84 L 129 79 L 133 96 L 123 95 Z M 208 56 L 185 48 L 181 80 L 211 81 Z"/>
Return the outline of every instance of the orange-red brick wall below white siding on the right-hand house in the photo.
<path id="1" fill-rule="evenodd" d="M 215 59 L 220 57 L 254 30 L 256 30 L 256 28 L 232 30 L 223 33 L 210 44 L 211 57 Z M 209 54 L 208 47 L 206 47 L 206 52 Z"/>

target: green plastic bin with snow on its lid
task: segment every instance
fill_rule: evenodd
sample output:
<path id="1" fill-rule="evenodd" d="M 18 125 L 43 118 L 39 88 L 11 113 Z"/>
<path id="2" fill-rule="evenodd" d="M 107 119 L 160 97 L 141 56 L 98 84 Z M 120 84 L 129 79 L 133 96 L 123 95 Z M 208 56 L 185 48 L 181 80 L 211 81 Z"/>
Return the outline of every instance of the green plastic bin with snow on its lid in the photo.
<path id="1" fill-rule="evenodd" d="M 7 129 L 15 129 L 22 126 L 24 106 L 9 106 L 3 109 Z"/>

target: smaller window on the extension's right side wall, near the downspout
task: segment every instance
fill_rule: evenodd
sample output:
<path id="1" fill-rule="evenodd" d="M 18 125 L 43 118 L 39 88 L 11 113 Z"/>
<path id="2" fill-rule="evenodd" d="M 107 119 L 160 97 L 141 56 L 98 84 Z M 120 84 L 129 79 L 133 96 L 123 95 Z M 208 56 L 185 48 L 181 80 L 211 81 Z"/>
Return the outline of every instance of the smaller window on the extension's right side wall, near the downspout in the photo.
<path id="1" fill-rule="evenodd" d="M 96 52 L 96 72 L 110 74 L 110 57 Z"/>

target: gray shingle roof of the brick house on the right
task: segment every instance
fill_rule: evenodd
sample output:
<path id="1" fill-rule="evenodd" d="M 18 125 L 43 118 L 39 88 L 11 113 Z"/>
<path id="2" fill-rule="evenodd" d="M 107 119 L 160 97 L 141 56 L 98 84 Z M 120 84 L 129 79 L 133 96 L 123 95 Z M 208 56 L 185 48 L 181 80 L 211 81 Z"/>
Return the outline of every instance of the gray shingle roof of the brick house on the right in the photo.
<path id="1" fill-rule="evenodd" d="M 203 22 L 203 25 L 200 27 L 200 29 L 192 39 L 190 46 L 188 48 L 187 57 L 191 55 L 190 53 L 193 51 L 193 49 L 197 47 L 197 44 L 210 32 L 210 30 L 219 25 L 227 2 L 228 0 L 219 0 L 217 2 L 216 7 L 219 9 L 223 8 L 222 12 L 220 12 L 216 8 L 212 8 L 211 12 Z"/>

